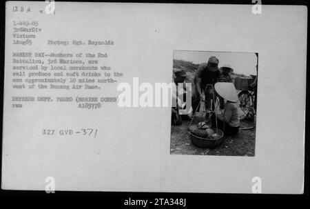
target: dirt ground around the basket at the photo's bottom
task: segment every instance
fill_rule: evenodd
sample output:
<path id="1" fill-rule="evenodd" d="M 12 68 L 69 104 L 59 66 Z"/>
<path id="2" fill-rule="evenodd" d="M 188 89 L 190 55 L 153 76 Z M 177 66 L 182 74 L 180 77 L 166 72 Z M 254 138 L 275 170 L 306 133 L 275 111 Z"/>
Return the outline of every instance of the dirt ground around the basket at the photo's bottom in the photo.
<path id="1" fill-rule="evenodd" d="M 224 137 L 223 143 L 213 149 L 197 148 L 187 132 L 189 121 L 182 125 L 172 125 L 170 154 L 172 155 L 222 155 L 222 156 L 254 156 L 256 128 L 239 130 L 234 137 Z M 240 128 L 254 126 L 253 122 L 240 121 Z"/>

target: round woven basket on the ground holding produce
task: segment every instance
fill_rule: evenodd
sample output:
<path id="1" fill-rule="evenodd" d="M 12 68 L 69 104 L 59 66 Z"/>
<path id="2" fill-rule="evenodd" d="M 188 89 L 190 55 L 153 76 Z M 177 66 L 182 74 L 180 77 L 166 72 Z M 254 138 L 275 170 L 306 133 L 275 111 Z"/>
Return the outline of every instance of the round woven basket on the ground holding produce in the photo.
<path id="1" fill-rule="evenodd" d="M 216 128 L 211 128 L 216 133 Z M 216 139 L 212 137 L 198 137 L 194 135 L 193 132 L 189 132 L 189 135 L 191 137 L 191 141 L 194 144 L 194 146 L 197 146 L 198 148 L 215 148 L 216 146 L 219 146 L 223 142 L 223 131 L 218 129 L 218 137 Z"/>

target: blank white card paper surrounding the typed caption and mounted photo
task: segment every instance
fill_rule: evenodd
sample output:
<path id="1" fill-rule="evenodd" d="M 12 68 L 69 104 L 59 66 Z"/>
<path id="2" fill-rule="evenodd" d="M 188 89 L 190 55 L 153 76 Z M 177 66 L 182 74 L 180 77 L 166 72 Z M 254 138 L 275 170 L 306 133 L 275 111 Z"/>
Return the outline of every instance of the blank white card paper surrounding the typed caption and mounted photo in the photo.
<path id="1" fill-rule="evenodd" d="M 262 179 L 264 193 L 303 192 L 307 8 L 251 5 L 61 3 L 56 14 L 11 12 L 7 3 L 6 72 L 3 112 L 2 188 L 141 192 L 251 192 Z M 43 32 L 31 48 L 12 46 L 12 20 L 37 19 Z M 57 51 L 47 39 L 113 39 L 107 47 L 120 81 L 170 82 L 174 50 L 258 52 L 258 117 L 255 157 L 169 155 L 170 108 L 79 110 L 54 103 L 11 108 L 12 52 Z M 40 43 L 42 41 L 42 43 Z M 44 47 L 44 50 L 42 48 Z M 66 46 L 68 51 L 106 47 Z M 59 52 L 61 48 L 59 48 Z M 116 94 L 116 84 L 103 95 Z M 30 94 L 30 93 L 29 93 Z M 81 92 L 33 91 L 72 96 Z M 97 91 L 89 96 L 101 95 Z M 27 105 L 27 106 L 26 106 Z M 42 137 L 43 128 L 99 128 L 96 139 Z"/>

